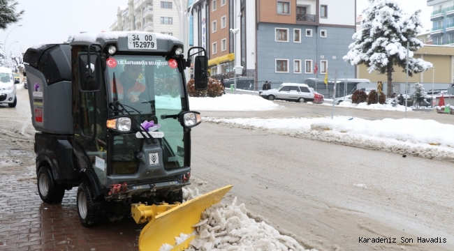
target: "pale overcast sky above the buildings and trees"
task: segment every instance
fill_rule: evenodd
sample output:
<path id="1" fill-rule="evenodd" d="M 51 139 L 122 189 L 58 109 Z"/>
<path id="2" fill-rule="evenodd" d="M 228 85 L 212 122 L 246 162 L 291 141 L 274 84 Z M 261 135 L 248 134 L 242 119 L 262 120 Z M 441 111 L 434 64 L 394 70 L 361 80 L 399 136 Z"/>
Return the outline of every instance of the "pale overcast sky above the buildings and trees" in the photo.
<path id="1" fill-rule="evenodd" d="M 17 0 L 17 10 L 25 10 L 22 20 L 17 24 L 0 30 L 1 43 L 6 50 L 19 53 L 27 48 L 45 43 L 62 43 L 68 36 L 80 31 L 98 33 L 109 31 L 117 18 L 118 6 L 126 6 L 128 0 Z M 432 27 L 427 0 L 397 0 L 408 13 L 420 8 L 421 20 L 425 29 Z M 407 3 L 407 5 L 404 5 Z M 411 3 L 411 4 L 409 4 Z M 367 0 L 357 0 L 358 15 L 367 6 Z M 22 26 L 17 26 L 22 24 Z M 12 30 L 13 29 L 13 30 Z M 18 41 L 17 43 L 15 41 Z"/>

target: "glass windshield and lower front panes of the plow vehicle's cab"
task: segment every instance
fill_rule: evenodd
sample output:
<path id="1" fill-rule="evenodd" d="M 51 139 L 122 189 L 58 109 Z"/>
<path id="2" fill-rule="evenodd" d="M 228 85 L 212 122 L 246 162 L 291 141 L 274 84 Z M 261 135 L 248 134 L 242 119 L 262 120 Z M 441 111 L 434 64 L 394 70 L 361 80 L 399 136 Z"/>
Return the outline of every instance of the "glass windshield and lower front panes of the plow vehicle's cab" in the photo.
<path id="1" fill-rule="evenodd" d="M 166 169 L 184 166 L 186 134 L 176 115 L 187 111 L 183 75 L 175 59 L 164 56 L 115 55 L 107 59 L 109 102 L 118 100 L 138 123 L 153 121 L 163 132 L 159 144 Z M 110 116 L 122 115 L 110 112 Z M 126 114 L 125 114 L 126 115 Z M 133 126 L 138 126 L 133 122 Z M 114 135 L 113 174 L 134 174 L 143 139 L 136 133 Z"/>

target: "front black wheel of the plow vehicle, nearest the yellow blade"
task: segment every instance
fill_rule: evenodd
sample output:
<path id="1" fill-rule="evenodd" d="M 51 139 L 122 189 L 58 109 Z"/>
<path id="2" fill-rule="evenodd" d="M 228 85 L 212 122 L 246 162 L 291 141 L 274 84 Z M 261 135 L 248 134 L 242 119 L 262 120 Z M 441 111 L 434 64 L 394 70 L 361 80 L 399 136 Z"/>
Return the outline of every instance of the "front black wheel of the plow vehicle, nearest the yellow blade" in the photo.
<path id="1" fill-rule="evenodd" d="M 99 225 L 104 217 L 103 204 L 94 199 L 93 188 L 87 183 L 81 183 L 77 194 L 78 215 L 84 227 Z"/>

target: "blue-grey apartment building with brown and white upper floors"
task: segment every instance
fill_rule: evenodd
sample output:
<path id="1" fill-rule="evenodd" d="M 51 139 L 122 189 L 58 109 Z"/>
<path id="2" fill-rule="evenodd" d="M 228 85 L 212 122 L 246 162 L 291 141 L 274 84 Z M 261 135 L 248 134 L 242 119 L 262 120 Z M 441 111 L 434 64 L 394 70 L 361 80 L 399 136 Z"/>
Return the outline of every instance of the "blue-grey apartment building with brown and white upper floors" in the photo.
<path id="1" fill-rule="evenodd" d="M 356 30 L 356 1 L 258 1 L 258 81 L 351 78 L 343 59 Z"/>

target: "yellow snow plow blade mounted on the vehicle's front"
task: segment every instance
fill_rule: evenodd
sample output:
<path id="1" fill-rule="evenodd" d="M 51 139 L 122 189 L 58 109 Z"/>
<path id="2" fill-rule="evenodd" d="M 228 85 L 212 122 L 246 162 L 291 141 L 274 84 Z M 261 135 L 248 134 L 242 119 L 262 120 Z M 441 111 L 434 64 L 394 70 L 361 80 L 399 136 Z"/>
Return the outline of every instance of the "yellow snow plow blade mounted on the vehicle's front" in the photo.
<path id="1" fill-rule="evenodd" d="M 175 205 L 152 205 L 133 204 L 131 213 L 137 223 L 148 224 L 140 232 L 139 250 L 159 250 L 163 244 L 173 246 L 172 250 L 185 250 L 195 236 L 186 238 L 182 243 L 176 243 L 175 237 L 180 234 L 191 235 L 193 225 L 200 221 L 200 215 L 213 204 L 219 203 L 226 193 L 232 188 L 227 185 L 200 195 L 194 199 Z"/>

